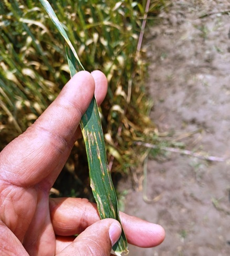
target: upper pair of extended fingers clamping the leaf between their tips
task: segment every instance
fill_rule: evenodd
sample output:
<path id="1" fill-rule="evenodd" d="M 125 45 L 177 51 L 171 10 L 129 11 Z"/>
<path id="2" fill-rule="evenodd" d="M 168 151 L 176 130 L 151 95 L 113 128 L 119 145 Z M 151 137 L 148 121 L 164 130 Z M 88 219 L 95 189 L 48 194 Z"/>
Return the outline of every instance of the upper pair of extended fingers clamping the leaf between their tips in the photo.
<path id="1" fill-rule="evenodd" d="M 97 71 L 99 103 L 106 95 L 107 81 Z M 2 179 L 18 186 L 32 186 L 52 172 L 48 190 L 65 164 L 77 136 L 81 116 L 95 92 L 93 76 L 82 71 L 66 84 L 57 99 L 27 131 L 1 152 Z M 1 165 L 2 163 L 2 165 Z"/>

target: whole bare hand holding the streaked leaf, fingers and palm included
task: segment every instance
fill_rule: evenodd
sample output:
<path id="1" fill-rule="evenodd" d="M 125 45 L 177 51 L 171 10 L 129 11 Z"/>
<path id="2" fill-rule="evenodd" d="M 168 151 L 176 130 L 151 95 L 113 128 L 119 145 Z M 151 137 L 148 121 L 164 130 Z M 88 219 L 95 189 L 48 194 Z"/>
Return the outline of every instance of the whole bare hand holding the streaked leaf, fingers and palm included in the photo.
<path id="1" fill-rule="evenodd" d="M 49 191 L 81 136 L 78 124 L 93 93 L 100 104 L 106 77 L 77 73 L 26 132 L 0 153 L 1 255 L 110 255 L 119 222 L 100 220 L 86 199 L 50 199 Z M 128 242 L 154 247 L 164 240 L 157 224 L 121 213 Z M 77 238 L 74 234 L 80 234 Z"/>

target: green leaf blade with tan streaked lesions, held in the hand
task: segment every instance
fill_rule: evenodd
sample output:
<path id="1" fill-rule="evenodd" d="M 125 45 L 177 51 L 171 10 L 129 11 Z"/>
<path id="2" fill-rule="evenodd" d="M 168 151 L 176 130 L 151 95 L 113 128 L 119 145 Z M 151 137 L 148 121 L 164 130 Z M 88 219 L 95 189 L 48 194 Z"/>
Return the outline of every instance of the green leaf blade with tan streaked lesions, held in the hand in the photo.
<path id="1" fill-rule="evenodd" d="M 66 54 L 70 69 L 70 75 L 73 76 L 83 69 L 77 53 L 72 46 L 64 28 L 61 26 L 53 8 L 46 0 L 39 0 L 45 7 L 51 20 L 58 28 L 61 35 L 65 38 Z M 80 65 L 80 67 L 79 67 Z M 83 139 L 86 144 L 86 151 L 89 164 L 90 186 L 92 188 L 93 196 L 97 202 L 98 212 L 101 219 L 112 218 L 118 220 L 120 223 L 120 216 L 118 210 L 117 195 L 113 187 L 109 166 L 106 159 L 106 148 L 104 145 L 104 137 L 101 127 L 98 106 L 95 97 L 82 116 L 81 131 Z M 121 237 L 116 244 L 113 245 L 113 250 L 116 255 L 121 255 L 122 252 L 128 252 L 128 243 L 126 235 L 122 229 Z"/>

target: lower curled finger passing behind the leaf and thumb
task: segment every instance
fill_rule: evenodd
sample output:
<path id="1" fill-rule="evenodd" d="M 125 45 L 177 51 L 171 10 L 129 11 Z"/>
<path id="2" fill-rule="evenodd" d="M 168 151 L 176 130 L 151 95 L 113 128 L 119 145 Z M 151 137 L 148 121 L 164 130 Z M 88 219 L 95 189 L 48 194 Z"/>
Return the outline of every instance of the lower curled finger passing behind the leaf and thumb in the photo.
<path id="1" fill-rule="evenodd" d="M 50 199 L 50 215 L 57 235 L 79 234 L 100 220 L 96 204 L 86 199 Z M 120 212 L 124 232 L 129 243 L 138 247 L 155 247 L 165 237 L 164 229 L 134 216 Z"/>

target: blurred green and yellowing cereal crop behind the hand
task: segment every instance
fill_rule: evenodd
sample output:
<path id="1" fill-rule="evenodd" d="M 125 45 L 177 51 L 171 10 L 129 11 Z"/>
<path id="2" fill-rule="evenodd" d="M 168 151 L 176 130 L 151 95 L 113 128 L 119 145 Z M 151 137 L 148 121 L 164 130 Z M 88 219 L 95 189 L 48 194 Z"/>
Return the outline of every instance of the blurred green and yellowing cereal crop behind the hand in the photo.
<path id="1" fill-rule="evenodd" d="M 106 74 L 109 89 L 100 107 L 108 162 L 115 178 L 132 175 L 145 151 L 135 141 L 153 141 L 144 52 L 137 55 L 146 0 L 50 0 L 89 72 Z M 151 1 L 155 16 L 163 1 Z M 64 40 L 32 0 L 0 2 L 0 150 L 35 122 L 69 80 Z M 82 140 L 54 188 L 61 196 L 91 197 Z M 134 179 L 134 180 L 135 180 Z M 115 179 L 117 180 L 117 179 Z"/>

